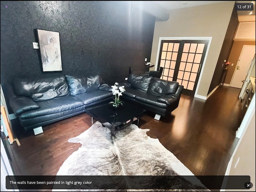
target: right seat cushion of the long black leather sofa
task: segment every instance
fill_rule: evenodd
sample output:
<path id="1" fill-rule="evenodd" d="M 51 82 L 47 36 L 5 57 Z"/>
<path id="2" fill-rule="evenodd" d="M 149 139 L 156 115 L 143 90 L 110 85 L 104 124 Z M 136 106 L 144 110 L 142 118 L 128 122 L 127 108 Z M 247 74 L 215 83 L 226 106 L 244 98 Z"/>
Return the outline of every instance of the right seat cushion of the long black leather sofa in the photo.
<path id="1" fill-rule="evenodd" d="M 113 96 L 112 92 L 104 91 L 104 90 L 96 90 L 88 93 L 75 95 L 75 97 L 80 99 L 82 102 L 84 102 L 85 105 L 97 102 L 105 98 L 111 98 L 112 96 Z"/>

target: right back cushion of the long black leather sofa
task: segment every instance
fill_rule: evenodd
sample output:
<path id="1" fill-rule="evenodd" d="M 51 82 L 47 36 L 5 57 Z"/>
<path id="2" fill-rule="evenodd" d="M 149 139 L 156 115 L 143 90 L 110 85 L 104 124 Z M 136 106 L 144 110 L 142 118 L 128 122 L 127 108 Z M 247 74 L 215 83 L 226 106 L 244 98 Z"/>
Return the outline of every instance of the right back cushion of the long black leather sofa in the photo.
<path id="1" fill-rule="evenodd" d="M 78 95 L 95 91 L 102 84 L 102 78 L 99 75 L 78 77 L 66 75 L 71 95 Z"/>

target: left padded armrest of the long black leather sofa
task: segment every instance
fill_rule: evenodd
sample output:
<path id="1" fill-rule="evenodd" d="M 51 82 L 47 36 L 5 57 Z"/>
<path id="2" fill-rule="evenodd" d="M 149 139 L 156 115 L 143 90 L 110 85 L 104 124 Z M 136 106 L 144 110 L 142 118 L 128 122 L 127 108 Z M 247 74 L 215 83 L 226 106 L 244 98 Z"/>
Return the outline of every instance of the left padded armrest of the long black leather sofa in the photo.
<path id="1" fill-rule="evenodd" d="M 34 100 L 28 97 L 15 96 L 10 99 L 10 107 L 15 115 L 19 115 L 22 112 L 39 108 Z"/>

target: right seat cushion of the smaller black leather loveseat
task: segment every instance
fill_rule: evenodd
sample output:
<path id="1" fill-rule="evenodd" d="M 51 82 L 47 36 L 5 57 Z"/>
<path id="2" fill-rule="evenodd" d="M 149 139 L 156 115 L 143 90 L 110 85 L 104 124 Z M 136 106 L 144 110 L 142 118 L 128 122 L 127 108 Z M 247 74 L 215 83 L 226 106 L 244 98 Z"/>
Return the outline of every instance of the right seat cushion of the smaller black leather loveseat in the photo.
<path id="1" fill-rule="evenodd" d="M 140 95 L 135 96 L 135 100 L 138 100 L 140 102 L 144 102 L 146 104 L 150 104 L 152 106 L 160 107 L 160 108 L 168 108 L 168 104 L 164 102 L 158 101 L 159 97 L 147 93 L 142 93 Z"/>

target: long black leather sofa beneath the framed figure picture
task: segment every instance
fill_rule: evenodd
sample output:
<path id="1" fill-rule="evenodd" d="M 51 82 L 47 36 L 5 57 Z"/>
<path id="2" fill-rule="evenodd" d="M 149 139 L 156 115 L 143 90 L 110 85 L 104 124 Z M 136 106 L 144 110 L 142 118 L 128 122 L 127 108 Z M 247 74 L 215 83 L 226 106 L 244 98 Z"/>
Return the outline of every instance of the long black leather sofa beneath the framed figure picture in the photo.
<path id="1" fill-rule="evenodd" d="M 39 134 L 43 125 L 81 114 L 87 106 L 112 98 L 106 87 L 99 75 L 17 78 L 10 85 L 8 100 L 20 125 Z"/>

